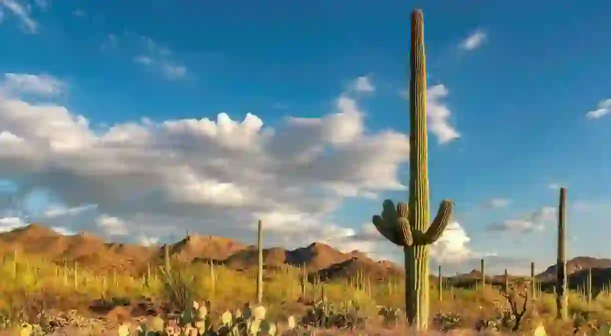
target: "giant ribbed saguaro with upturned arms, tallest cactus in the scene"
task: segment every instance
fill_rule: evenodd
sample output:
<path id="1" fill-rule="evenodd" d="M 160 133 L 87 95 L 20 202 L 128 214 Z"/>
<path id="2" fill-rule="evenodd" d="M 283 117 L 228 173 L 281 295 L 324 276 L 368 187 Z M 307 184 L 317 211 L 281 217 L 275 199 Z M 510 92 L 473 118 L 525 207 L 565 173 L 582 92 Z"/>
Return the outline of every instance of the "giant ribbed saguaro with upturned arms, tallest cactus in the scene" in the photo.
<path id="1" fill-rule="evenodd" d="M 382 216 L 373 216 L 378 231 L 405 255 L 405 305 L 408 322 L 417 330 L 428 329 L 429 245 L 444 232 L 453 203 L 444 200 L 430 222 L 427 139 L 426 139 L 426 60 L 421 10 L 411 14 L 411 78 L 409 81 L 409 208 L 391 200 L 383 203 Z"/>

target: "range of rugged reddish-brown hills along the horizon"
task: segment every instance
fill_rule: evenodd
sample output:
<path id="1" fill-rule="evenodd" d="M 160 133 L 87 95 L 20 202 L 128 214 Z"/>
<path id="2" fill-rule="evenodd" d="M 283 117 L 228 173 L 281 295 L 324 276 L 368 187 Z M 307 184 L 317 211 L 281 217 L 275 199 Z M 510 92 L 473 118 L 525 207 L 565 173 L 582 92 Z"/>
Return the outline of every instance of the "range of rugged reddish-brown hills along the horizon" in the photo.
<path id="1" fill-rule="evenodd" d="M 161 265 L 164 246 L 139 246 L 136 244 L 106 243 L 103 239 L 79 233 L 64 236 L 43 225 L 31 224 L 0 233 L 0 253 L 12 254 L 14 251 L 26 254 L 39 254 L 56 263 L 71 263 L 98 269 L 122 269 L 127 272 L 143 272 L 147 265 Z M 205 235 L 189 235 L 175 244 L 169 245 L 170 257 L 185 262 L 213 261 L 230 269 L 251 269 L 257 265 L 257 247 L 246 245 L 229 238 Z M 336 279 L 363 274 L 371 279 L 403 277 L 401 265 L 390 261 L 376 261 L 362 252 L 340 252 L 323 243 L 287 250 L 271 247 L 263 250 L 265 268 L 305 267 L 308 272 L 318 272 L 323 279 Z M 592 268 L 593 283 L 602 285 L 611 280 L 611 259 L 577 257 L 567 262 L 569 283 L 584 283 L 587 270 Z M 510 275 L 510 279 L 514 276 Z M 555 279 L 555 265 L 536 278 L 544 283 Z M 436 277 L 431 274 L 431 280 Z M 464 285 L 481 279 L 481 272 L 472 270 L 465 274 L 449 277 L 455 285 Z M 502 283 L 502 275 L 486 275 L 487 282 Z"/>

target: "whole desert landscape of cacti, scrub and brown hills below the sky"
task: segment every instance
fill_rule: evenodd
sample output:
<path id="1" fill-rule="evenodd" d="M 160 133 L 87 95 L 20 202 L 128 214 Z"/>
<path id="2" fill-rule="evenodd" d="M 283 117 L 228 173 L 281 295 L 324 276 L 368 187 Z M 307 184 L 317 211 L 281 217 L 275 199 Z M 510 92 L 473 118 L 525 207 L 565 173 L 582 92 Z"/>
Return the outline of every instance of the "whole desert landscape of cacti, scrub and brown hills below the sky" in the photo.
<path id="1" fill-rule="evenodd" d="M 324 244 L 263 250 L 187 235 L 130 246 L 38 225 L 0 235 L 0 327 L 10 335 L 303 335 L 437 332 L 610 335 L 611 282 L 568 272 L 566 189 L 558 263 L 530 277 L 430 275 L 428 248 L 453 203 L 430 224 L 422 12 L 412 13 L 408 203 L 383 203 L 373 225 L 403 248 L 404 268 Z M 223 246 L 223 249 L 219 249 Z M 593 276 L 596 275 L 595 277 Z M 579 282 L 579 279 L 585 279 Z M 602 280 L 601 280 L 602 279 Z M 574 280 L 576 280 L 574 282 Z"/>

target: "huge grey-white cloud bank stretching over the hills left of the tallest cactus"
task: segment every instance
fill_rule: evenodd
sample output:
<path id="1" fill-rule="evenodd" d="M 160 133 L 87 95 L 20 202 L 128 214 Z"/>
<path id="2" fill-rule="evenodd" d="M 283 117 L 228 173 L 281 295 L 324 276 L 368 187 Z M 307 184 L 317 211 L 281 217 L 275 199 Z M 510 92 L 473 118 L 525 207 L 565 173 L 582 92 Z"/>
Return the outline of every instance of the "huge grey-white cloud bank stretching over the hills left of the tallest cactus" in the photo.
<path id="1" fill-rule="evenodd" d="M 46 224 L 149 243 L 185 229 L 250 243 L 258 219 L 269 245 L 339 241 L 354 230 L 331 214 L 346 197 L 405 189 L 397 172 L 409 154 L 406 134 L 366 133 L 345 94 L 323 117 L 276 128 L 221 113 L 102 131 L 63 106 L 0 97 L 0 131 L 0 179 L 62 203 L 45 211 Z M 359 246 L 370 248 L 342 248 Z"/>

